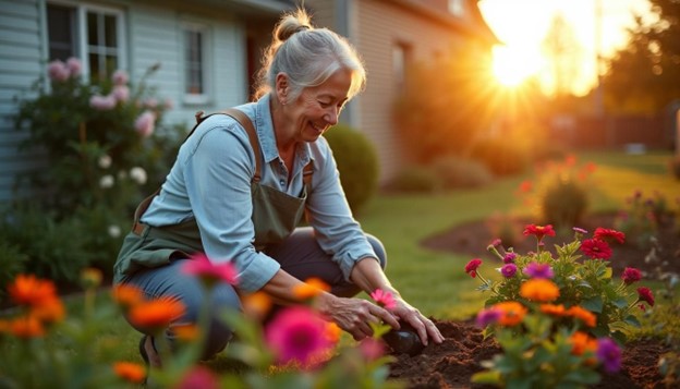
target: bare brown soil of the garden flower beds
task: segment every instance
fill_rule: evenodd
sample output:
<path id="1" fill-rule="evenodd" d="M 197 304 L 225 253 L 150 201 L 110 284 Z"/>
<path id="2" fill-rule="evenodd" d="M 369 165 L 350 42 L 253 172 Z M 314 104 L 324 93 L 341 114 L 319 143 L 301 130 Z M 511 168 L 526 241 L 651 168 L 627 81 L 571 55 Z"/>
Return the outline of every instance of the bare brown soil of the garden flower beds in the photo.
<path id="1" fill-rule="evenodd" d="M 517 224 L 523 223 L 520 220 Z M 596 227 L 614 228 L 614 215 L 593 215 L 580 226 L 588 231 Z M 521 233 L 521 231 L 520 231 Z M 481 257 L 494 260 L 486 246 L 497 236 L 491 235 L 490 224 L 486 221 L 470 222 L 452 230 L 432 236 L 423 245 L 436 250 Z M 521 236 L 514 245 L 518 253 L 535 250 L 533 236 Z M 569 236 L 571 240 L 572 236 Z M 615 276 L 626 267 L 635 267 L 647 272 L 647 277 L 663 272 L 680 273 L 680 239 L 672 222 L 661 226 L 657 234 L 658 243 L 653 250 L 641 248 L 633 244 L 615 246 L 610 259 Z M 560 243 L 559 238 L 546 236 L 546 248 Z M 561 240 L 563 241 L 563 239 Z M 653 253 L 654 255 L 651 255 Z M 500 263 L 500 262 L 499 262 Z M 501 352 L 493 338 L 484 339 L 482 329 L 472 320 L 447 321 L 432 318 L 446 340 L 441 344 L 429 344 L 415 356 L 393 354 L 396 361 L 390 365 L 390 378 L 406 382 L 409 389 L 429 388 L 488 388 L 471 384 L 473 374 L 483 370 L 482 362 L 490 360 Z M 658 339 L 645 339 L 627 343 L 622 351 L 622 368 L 617 374 L 602 372 L 600 384 L 595 389 L 604 388 L 666 388 L 664 377 L 658 370 L 660 355 L 671 347 Z"/>

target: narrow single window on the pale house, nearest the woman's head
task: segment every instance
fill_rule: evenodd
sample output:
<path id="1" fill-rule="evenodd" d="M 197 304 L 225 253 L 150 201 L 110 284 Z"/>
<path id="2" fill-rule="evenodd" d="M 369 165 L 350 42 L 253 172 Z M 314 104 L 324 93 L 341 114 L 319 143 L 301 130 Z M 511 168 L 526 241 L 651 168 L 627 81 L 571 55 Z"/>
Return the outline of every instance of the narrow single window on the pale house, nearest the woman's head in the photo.
<path id="1" fill-rule="evenodd" d="M 207 47 L 208 33 L 205 26 L 187 23 L 184 36 L 184 100 L 189 104 L 207 101 Z"/>

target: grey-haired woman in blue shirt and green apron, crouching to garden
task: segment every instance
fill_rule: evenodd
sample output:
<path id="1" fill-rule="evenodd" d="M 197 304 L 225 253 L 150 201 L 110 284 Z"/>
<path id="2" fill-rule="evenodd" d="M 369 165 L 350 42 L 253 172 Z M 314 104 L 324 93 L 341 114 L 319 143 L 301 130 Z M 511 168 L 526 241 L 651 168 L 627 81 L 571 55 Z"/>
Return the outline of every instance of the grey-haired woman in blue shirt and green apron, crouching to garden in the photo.
<path id="1" fill-rule="evenodd" d="M 223 283 L 214 291 L 211 312 L 238 309 L 239 293 L 258 290 L 279 304 L 294 304 L 295 287 L 316 277 L 331 285 L 316 297 L 318 309 L 354 339 L 369 337 L 371 323 L 399 328 L 400 319 L 424 344 L 444 340 L 385 276 L 382 245 L 353 219 L 321 137 L 364 83 L 363 64 L 347 40 L 313 28 L 300 10 L 275 28 L 259 99 L 231 110 L 234 118 L 208 117 L 187 137 L 160 192 L 138 209 L 116 264 L 117 283 L 186 307 L 166 331 L 170 344 L 172 326 L 195 323 L 203 303 L 201 285 L 181 271 L 195 252 L 231 260 L 239 271 L 238 290 Z M 309 227 L 295 228 L 303 214 Z M 351 297 L 376 289 L 393 294 L 391 313 Z M 204 356 L 218 353 L 230 338 L 230 329 L 214 318 Z M 151 337 L 142 339 L 139 350 L 160 365 Z"/>

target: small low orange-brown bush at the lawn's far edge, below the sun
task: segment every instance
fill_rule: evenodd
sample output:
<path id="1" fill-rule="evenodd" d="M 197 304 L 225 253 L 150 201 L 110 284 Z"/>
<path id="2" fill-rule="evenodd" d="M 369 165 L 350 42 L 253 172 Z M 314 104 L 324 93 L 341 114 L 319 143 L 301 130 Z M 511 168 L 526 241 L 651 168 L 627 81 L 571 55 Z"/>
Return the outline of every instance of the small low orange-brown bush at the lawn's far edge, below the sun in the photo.
<path id="1" fill-rule="evenodd" d="M 494 175 L 482 163 L 454 156 L 436 159 L 432 168 L 445 189 L 488 185 Z"/>

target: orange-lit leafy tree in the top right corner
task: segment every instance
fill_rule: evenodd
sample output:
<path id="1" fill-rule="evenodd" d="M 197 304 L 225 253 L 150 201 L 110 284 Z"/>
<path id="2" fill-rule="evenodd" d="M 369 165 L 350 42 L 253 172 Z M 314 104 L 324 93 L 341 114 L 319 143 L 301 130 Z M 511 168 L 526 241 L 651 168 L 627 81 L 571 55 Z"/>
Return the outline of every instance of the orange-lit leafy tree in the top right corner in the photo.
<path id="1" fill-rule="evenodd" d="M 635 15 L 629 44 L 608 60 L 609 112 L 653 114 L 680 98 L 680 1 L 648 1 L 653 17 Z"/>

